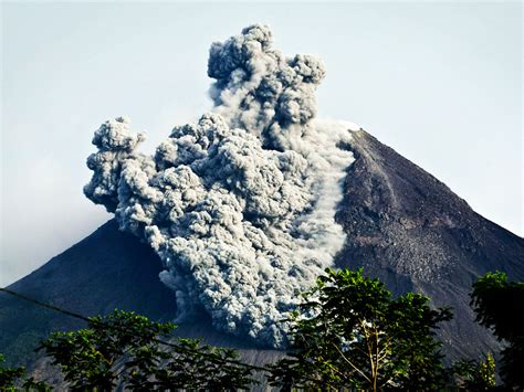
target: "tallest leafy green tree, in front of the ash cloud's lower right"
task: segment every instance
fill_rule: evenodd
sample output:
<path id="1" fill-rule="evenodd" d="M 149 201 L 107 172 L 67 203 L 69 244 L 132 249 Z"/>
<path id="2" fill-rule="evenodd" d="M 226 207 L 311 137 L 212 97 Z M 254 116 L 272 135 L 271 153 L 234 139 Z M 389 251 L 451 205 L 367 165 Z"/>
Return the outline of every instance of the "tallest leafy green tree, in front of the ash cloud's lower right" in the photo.
<path id="1" fill-rule="evenodd" d="M 292 388 L 436 390 L 446 372 L 433 330 L 451 319 L 429 299 L 397 299 L 359 271 L 326 269 L 291 317 L 293 351 L 272 367 L 270 382 Z"/>

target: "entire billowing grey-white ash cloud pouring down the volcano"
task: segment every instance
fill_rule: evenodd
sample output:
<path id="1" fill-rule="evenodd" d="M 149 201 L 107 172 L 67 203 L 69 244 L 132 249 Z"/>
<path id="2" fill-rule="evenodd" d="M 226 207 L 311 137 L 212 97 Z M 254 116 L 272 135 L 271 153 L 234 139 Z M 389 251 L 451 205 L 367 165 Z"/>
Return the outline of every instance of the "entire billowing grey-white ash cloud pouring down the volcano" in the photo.
<path id="1" fill-rule="evenodd" d="M 205 310 L 221 330 L 282 346 L 285 312 L 343 246 L 334 215 L 354 126 L 314 119 L 324 73 L 253 25 L 211 46 L 213 113 L 175 127 L 155 157 L 125 118 L 96 130 L 84 192 L 160 256 L 178 322 Z"/>

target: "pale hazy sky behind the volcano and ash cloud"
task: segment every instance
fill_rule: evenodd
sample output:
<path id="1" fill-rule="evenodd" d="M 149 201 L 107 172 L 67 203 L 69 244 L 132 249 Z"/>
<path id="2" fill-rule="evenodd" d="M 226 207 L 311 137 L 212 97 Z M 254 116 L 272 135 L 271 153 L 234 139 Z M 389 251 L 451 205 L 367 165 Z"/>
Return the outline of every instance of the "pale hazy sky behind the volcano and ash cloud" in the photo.
<path id="1" fill-rule="evenodd" d="M 93 131 L 151 150 L 211 107 L 211 42 L 262 22 L 327 66 L 319 115 L 359 124 L 523 235 L 520 2 L 1 4 L 1 259 L 9 284 L 111 216 L 82 193 Z"/>

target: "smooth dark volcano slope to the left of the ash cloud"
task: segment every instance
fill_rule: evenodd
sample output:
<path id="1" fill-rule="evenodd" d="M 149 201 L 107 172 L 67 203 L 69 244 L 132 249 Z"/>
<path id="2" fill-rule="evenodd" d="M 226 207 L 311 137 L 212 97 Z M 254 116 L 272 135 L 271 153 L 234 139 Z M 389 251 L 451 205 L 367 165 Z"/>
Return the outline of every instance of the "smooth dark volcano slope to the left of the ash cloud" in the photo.
<path id="1" fill-rule="evenodd" d="M 118 307 L 167 320 L 175 316 L 175 300 L 159 284 L 159 271 L 153 251 L 109 221 L 9 288 L 84 316 Z M 0 352 L 21 361 L 50 330 L 84 324 L 0 293 Z"/>

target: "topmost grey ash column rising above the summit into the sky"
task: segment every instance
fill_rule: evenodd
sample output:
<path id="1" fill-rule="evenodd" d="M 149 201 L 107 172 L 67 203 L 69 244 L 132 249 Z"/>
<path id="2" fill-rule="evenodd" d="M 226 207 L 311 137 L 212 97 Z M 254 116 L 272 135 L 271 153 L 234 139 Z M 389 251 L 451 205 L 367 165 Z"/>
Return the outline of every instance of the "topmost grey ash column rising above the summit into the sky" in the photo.
<path id="1" fill-rule="evenodd" d="M 209 51 L 208 75 L 217 112 L 230 121 L 258 133 L 264 147 L 292 148 L 307 133 L 316 115 L 316 86 L 324 64 L 311 55 L 285 57 L 272 47 L 272 33 L 255 24 Z"/>

